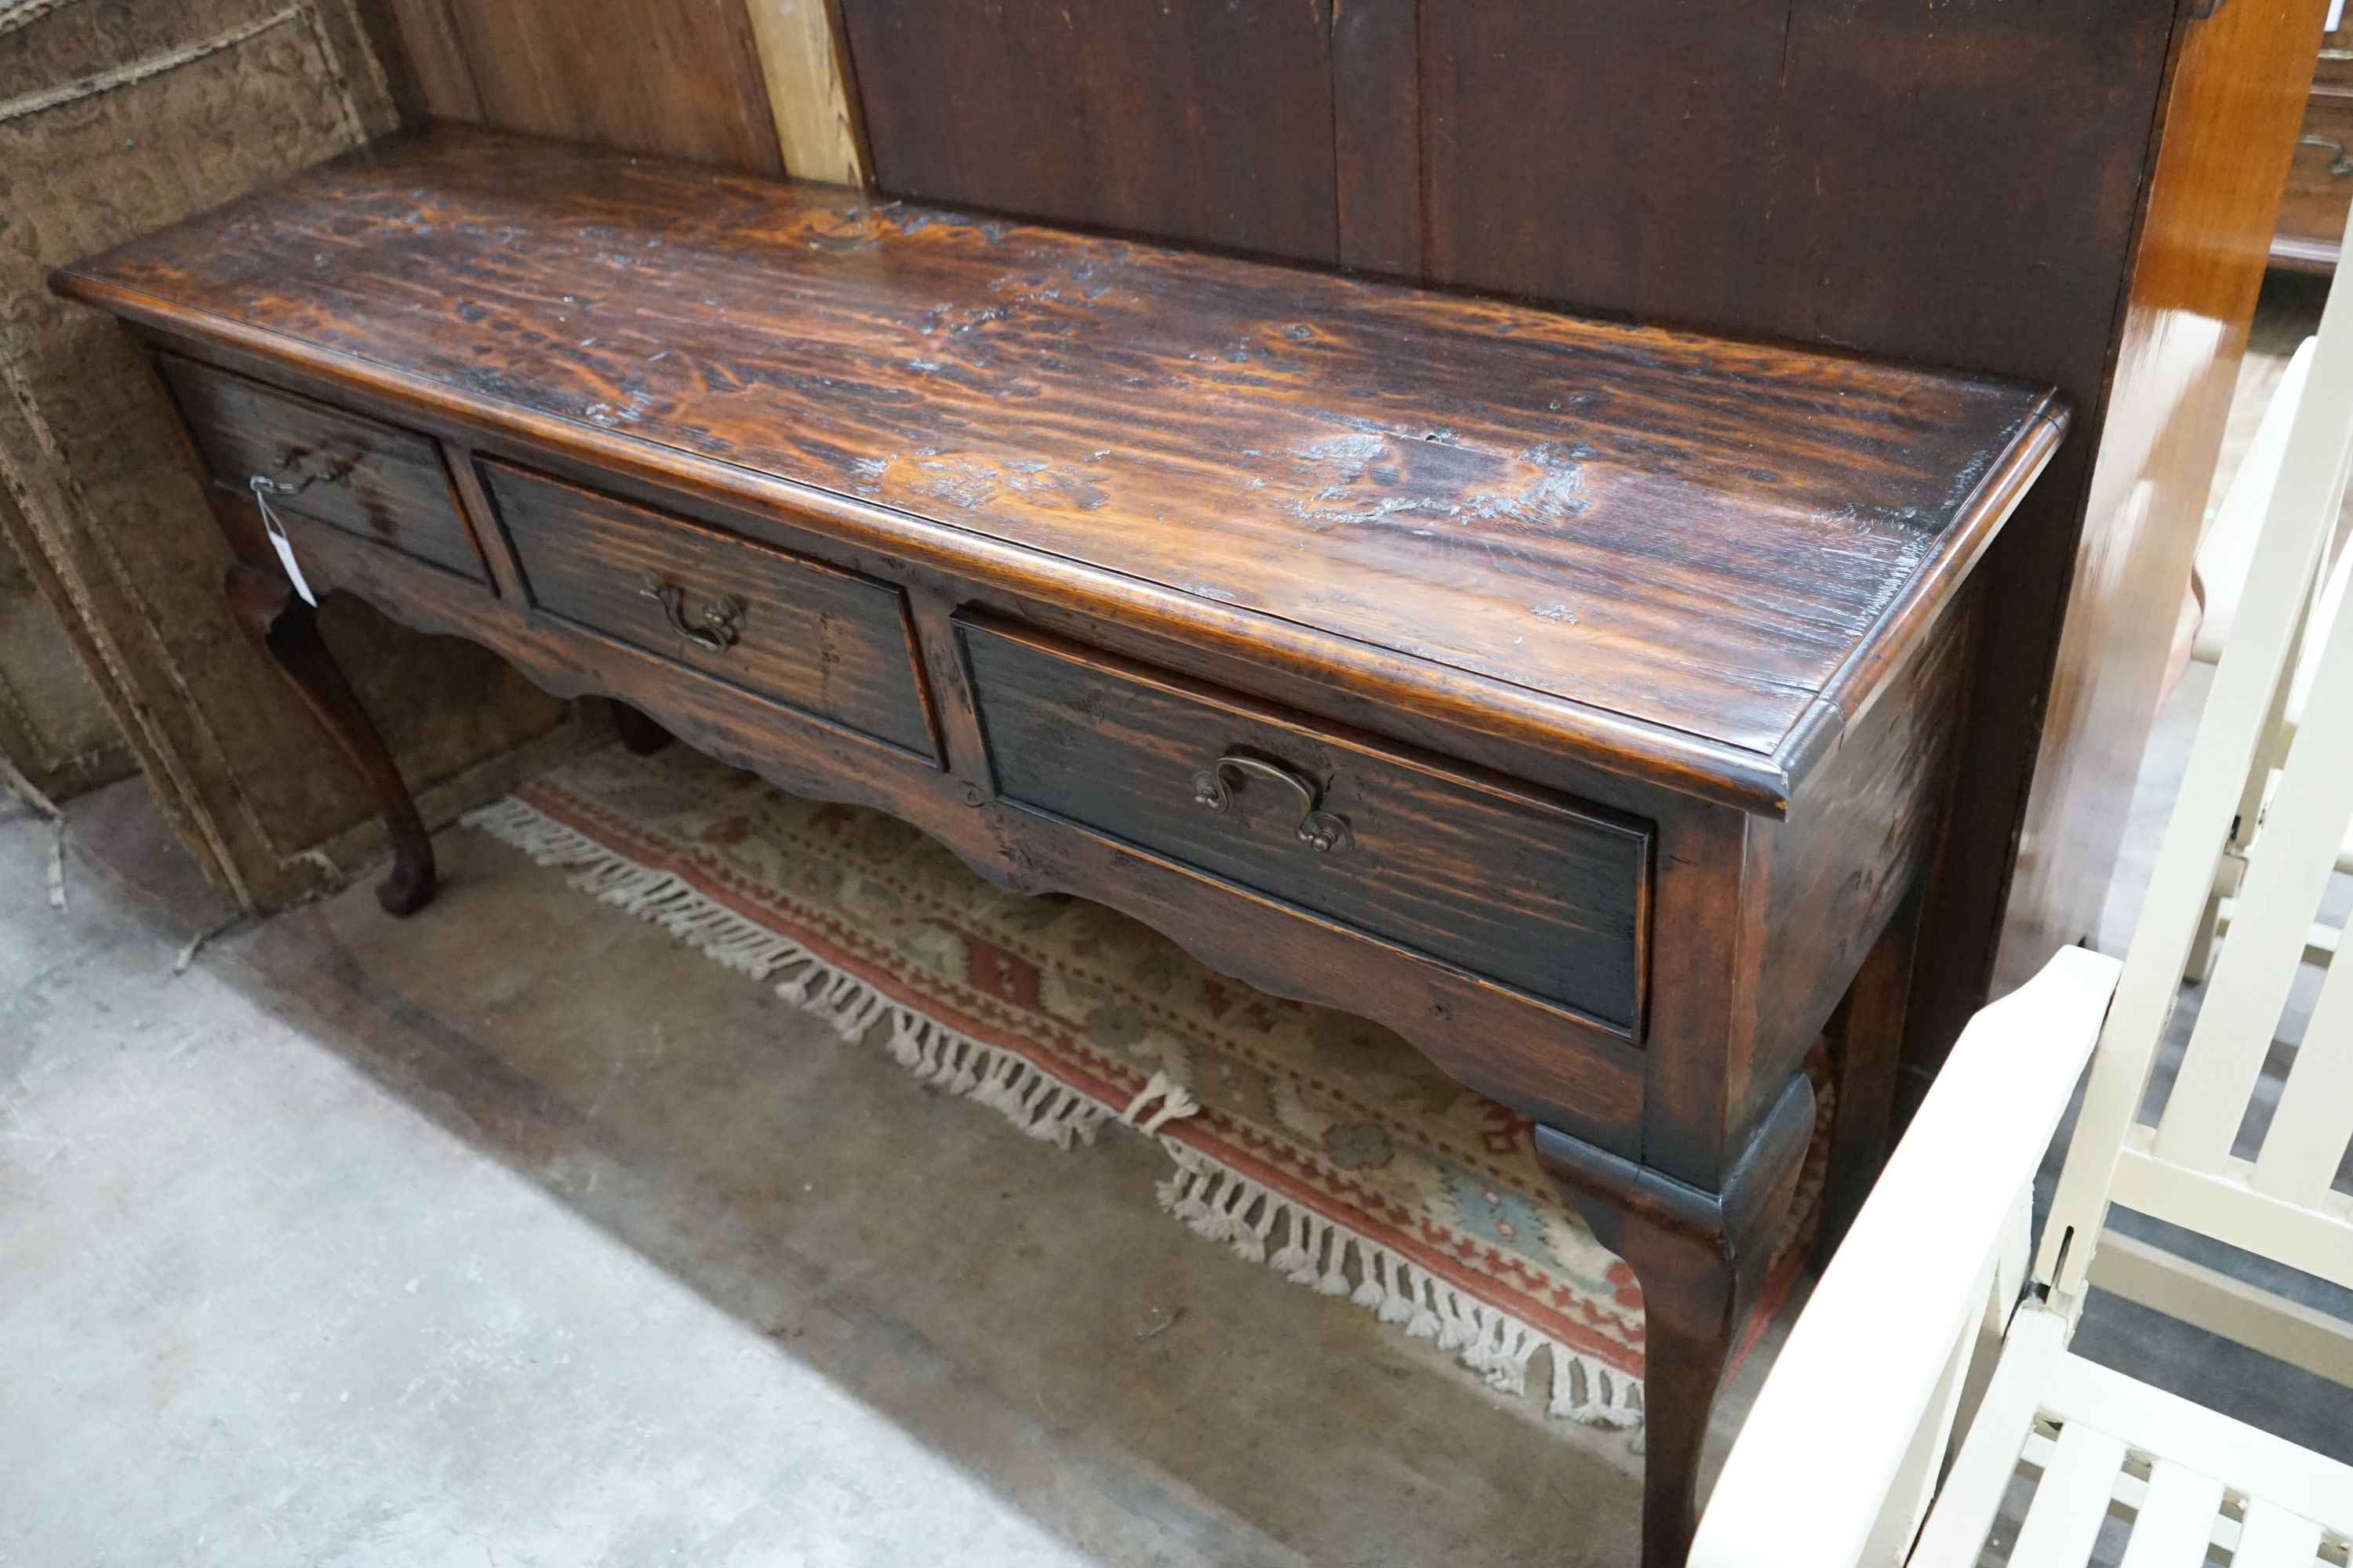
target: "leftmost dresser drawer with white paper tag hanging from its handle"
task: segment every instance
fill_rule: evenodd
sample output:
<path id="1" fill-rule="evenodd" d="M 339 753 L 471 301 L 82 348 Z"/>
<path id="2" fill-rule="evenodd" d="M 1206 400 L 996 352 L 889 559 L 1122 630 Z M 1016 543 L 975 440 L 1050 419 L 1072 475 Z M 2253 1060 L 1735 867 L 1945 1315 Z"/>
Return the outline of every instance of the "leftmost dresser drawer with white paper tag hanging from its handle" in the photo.
<path id="1" fill-rule="evenodd" d="M 254 475 L 299 484 L 271 505 L 489 583 L 431 435 L 179 355 L 160 353 L 155 364 L 216 484 L 240 496 L 252 494 Z"/>

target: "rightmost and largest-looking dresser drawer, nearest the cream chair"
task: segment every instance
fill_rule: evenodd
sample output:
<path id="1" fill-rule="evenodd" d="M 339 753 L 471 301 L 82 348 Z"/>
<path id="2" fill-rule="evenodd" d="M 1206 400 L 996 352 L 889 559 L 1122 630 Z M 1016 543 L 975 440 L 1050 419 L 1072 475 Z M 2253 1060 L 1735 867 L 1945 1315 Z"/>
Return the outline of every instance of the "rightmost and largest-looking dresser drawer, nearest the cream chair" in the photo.
<path id="1" fill-rule="evenodd" d="M 1645 823 L 1111 654 L 958 632 L 1000 799 L 1640 1037 Z"/>

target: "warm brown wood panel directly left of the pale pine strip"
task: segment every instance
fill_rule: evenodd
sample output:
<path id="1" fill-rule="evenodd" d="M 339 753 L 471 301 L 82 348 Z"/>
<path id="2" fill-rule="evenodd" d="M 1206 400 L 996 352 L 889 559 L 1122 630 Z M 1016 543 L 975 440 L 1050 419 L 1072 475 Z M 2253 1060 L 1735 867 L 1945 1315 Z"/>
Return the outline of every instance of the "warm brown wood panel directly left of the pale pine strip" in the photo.
<path id="1" fill-rule="evenodd" d="M 369 0 L 402 108 L 784 174 L 744 0 Z"/>

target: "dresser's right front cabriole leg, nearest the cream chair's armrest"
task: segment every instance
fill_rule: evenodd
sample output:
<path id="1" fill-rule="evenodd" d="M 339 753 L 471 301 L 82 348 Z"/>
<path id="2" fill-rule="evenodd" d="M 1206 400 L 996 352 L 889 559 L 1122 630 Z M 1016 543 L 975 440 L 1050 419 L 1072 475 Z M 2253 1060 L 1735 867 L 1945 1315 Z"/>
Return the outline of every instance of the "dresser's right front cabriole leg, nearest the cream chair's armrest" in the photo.
<path id="1" fill-rule="evenodd" d="M 1642 1281 L 1642 1568 L 1682 1568 L 1699 1523 L 1699 1450 L 1732 1340 L 1772 1265 L 1814 1131 L 1798 1074 L 1722 1192 L 1701 1192 L 1548 1126 L 1537 1159 L 1560 1197 Z"/>

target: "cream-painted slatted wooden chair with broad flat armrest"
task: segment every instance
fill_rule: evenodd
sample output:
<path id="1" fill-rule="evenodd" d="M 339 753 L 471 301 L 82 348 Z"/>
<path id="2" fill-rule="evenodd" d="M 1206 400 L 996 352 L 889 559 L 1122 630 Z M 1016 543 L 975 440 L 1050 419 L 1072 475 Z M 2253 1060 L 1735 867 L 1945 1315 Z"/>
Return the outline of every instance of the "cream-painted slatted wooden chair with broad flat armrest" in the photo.
<path id="1" fill-rule="evenodd" d="M 2353 818 L 2348 625 L 2318 658 L 2172 1093 L 2141 1121 L 2348 465 L 2341 287 L 2127 959 L 2061 952 L 1972 1020 L 1774 1363 L 1708 1502 L 1697 1568 L 2078 1568 L 2111 1519 L 2129 1528 L 2122 1568 L 2346 1563 L 2353 1467 L 2097 1366 L 2068 1340 L 2111 1201 L 2353 1288 L 2353 1199 L 2332 1185 L 2353 1140 L 2353 964 L 2325 976 L 2252 1154 L 2235 1147 Z M 2028 1265 L 2035 1166 L 2087 1056 Z M 2282 1314 L 2308 1333 L 2334 1324 Z M 1988 1535 L 2014 1486 L 2033 1493 L 2002 1559 Z"/>

